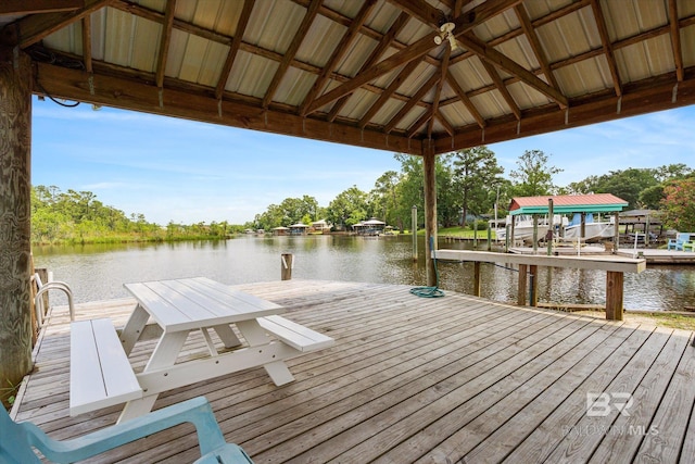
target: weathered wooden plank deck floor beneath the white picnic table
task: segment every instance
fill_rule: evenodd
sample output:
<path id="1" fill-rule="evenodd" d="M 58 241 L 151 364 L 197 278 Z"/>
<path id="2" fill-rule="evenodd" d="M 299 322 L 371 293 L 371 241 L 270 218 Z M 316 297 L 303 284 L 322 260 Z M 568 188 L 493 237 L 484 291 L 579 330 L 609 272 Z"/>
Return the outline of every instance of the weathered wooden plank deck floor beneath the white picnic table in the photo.
<path id="1" fill-rule="evenodd" d="M 236 288 L 288 306 L 286 317 L 330 335 L 336 346 L 290 361 L 292 384 L 276 387 L 255 368 L 162 394 L 155 409 L 205 396 L 227 440 L 257 463 L 687 463 L 695 456 L 690 331 L 451 291 L 425 299 L 405 286 L 287 280 Z M 123 324 L 131 304 L 80 305 L 77 314 L 109 314 Z M 43 334 L 36 372 L 15 406 L 18 421 L 58 439 L 113 424 L 119 412 L 68 416 L 65 322 L 55 316 Z M 190 355 L 203 347 L 189 342 Z M 134 350 L 136 368 L 148 343 Z M 587 393 L 614 397 L 587 414 Z M 616 407 L 626 393 L 629 415 Z M 94 462 L 197 456 L 192 427 L 185 425 Z"/>

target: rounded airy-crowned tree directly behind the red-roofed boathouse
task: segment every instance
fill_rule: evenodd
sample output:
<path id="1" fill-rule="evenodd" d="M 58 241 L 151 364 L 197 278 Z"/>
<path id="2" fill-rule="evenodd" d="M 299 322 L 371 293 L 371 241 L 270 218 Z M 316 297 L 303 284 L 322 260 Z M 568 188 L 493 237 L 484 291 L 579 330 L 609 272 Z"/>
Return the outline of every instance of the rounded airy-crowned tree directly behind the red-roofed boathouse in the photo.
<path id="1" fill-rule="evenodd" d="M 541 150 L 527 150 L 517 161 L 518 170 L 511 171 L 514 195 L 517 197 L 539 197 L 553 195 L 556 186 L 553 176 L 563 170 L 548 166 L 548 156 Z"/>

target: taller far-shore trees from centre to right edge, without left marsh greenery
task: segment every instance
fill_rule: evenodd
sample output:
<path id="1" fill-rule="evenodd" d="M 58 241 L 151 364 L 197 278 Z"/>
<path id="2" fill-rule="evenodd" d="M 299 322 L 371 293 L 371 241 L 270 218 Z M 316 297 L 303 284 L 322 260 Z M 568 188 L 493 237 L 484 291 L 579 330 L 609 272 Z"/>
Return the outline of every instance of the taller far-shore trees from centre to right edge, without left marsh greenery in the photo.
<path id="1" fill-rule="evenodd" d="M 400 229 L 410 224 L 412 208 L 424 224 L 424 172 L 420 156 L 396 153 L 400 172 L 388 171 L 370 191 L 356 186 L 340 192 L 327 206 L 314 197 L 287 198 L 270 204 L 247 227 L 273 229 L 294 223 L 326 220 L 338 229 L 377 217 Z M 511 198 L 548 195 L 612 193 L 628 202 L 628 210 L 658 210 L 668 227 L 695 230 L 695 171 L 685 164 L 656 168 L 628 168 L 593 175 L 568 186 L 554 184 L 563 170 L 540 150 L 527 150 L 517 167 L 505 176 L 495 154 L 485 146 L 442 154 L 435 161 L 437 215 L 443 227 L 466 226 L 471 217 L 500 217 Z"/>

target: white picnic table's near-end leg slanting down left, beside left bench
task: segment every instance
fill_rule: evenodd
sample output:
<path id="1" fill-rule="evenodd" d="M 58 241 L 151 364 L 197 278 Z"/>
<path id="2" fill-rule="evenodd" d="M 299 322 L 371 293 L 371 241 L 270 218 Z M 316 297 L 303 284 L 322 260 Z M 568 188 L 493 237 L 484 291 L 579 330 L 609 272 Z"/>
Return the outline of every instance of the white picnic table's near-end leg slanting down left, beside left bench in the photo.
<path id="1" fill-rule="evenodd" d="M 160 377 L 157 383 L 162 385 L 166 385 L 166 367 L 170 367 L 176 363 L 176 359 L 178 354 L 181 352 L 181 348 L 184 347 L 184 342 L 186 342 L 186 338 L 188 337 L 188 331 L 175 331 L 169 334 L 163 334 L 160 341 L 156 343 L 154 351 L 152 352 L 152 356 L 148 364 L 144 366 L 142 373 L 149 373 L 151 371 L 162 371 L 162 376 Z M 159 388 L 160 390 L 167 390 L 167 388 Z M 146 394 L 139 400 L 128 401 L 118 417 L 118 424 L 124 421 L 131 419 L 134 417 L 138 417 L 144 415 L 152 411 L 152 406 L 154 406 L 154 402 L 159 393 L 154 394 Z"/>

